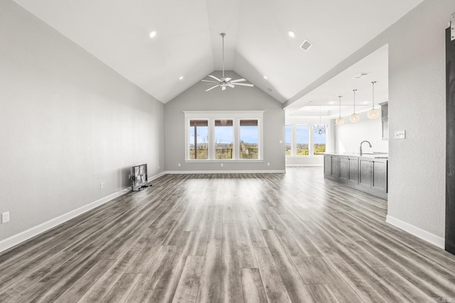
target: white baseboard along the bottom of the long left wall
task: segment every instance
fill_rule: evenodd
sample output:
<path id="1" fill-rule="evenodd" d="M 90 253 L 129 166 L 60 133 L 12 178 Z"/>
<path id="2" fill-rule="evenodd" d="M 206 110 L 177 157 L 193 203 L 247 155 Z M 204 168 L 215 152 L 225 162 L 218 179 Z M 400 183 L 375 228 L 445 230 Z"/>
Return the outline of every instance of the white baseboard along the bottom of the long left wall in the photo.
<path id="1" fill-rule="evenodd" d="M 162 175 L 165 175 L 165 172 L 160 172 L 158 175 L 149 177 L 148 181 L 155 180 L 156 178 L 161 177 Z M 7 250 L 13 246 L 16 246 L 19 243 L 22 243 L 23 241 L 27 241 L 28 239 L 33 238 L 34 236 L 38 236 L 40 233 L 43 233 L 45 231 L 48 231 L 50 228 L 63 224 L 66 221 L 75 218 L 76 216 L 84 214 L 85 212 L 90 211 L 91 209 L 94 209 L 97 206 L 100 206 L 102 204 L 105 204 L 105 203 L 111 201 L 112 199 L 120 197 L 120 196 L 122 196 L 122 194 L 125 194 L 125 193 L 129 192 L 130 190 L 131 190 L 131 187 L 127 187 L 126 189 L 122 189 L 119 192 L 114 192 L 113 194 L 109 194 L 106 197 L 97 199 L 95 202 L 86 204 L 78 209 L 70 211 L 70 212 L 63 214 L 61 216 L 58 216 L 54 219 L 50 219 L 49 221 L 46 221 L 46 222 L 39 224 L 37 226 L 34 226 L 32 228 L 29 228 L 26 231 L 22 231 L 21 233 L 17 233 L 14 236 L 1 240 L 0 241 L 0 252 Z"/>

